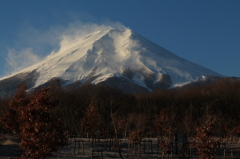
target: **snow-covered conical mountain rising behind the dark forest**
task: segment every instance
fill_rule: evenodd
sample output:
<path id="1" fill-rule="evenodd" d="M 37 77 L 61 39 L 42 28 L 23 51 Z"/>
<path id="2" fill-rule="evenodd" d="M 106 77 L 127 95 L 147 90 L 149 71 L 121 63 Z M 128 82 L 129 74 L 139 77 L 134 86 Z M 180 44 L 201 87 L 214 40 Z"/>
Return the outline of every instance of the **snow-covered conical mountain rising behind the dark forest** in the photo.
<path id="1" fill-rule="evenodd" d="M 59 78 L 63 86 L 105 83 L 151 91 L 208 76 L 221 75 L 180 58 L 129 29 L 103 30 L 79 38 L 42 62 L 0 79 L 0 94 L 15 90 L 22 81 L 34 89 L 52 78 Z"/>

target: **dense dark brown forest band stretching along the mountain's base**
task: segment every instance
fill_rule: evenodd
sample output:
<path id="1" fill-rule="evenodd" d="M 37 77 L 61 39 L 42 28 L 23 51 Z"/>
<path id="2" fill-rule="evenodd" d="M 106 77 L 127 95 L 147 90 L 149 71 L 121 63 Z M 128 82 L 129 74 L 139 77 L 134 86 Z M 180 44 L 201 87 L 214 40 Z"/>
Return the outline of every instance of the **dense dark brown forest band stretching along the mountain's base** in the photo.
<path id="1" fill-rule="evenodd" d="M 44 91 L 47 100 L 55 105 L 50 115 L 61 121 L 69 136 L 138 140 L 181 133 L 193 137 L 210 119 L 214 136 L 236 136 L 240 132 L 240 82 L 231 78 L 138 94 L 91 84 L 65 90 L 55 80 Z M 30 103 L 36 94 L 26 94 Z M 1 119 L 14 105 L 12 101 L 0 100 Z M 35 102 L 41 105 L 38 100 Z M 4 124 L 0 123 L 0 131 L 10 133 Z"/>

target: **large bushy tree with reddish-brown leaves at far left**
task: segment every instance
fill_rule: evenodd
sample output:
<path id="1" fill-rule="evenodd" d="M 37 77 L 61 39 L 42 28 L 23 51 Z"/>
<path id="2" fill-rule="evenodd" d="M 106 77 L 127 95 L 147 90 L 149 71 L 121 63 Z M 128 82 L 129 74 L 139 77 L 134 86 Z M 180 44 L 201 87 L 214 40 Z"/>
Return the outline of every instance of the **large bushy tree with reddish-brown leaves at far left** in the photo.
<path id="1" fill-rule="evenodd" d="M 51 114 L 56 104 L 51 101 L 49 89 L 41 89 L 31 96 L 23 89 L 26 87 L 19 86 L 2 121 L 20 137 L 20 147 L 25 151 L 22 158 L 45 158 L 66 144 L 67 135 L 62 122 Z"/>

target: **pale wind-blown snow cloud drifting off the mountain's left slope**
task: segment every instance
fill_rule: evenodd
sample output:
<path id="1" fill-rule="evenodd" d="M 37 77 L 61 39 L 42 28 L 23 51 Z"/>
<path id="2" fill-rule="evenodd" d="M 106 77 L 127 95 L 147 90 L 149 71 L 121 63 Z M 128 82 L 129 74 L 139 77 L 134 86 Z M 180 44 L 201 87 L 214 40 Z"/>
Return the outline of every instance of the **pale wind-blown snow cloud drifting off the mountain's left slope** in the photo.
<path id="1" fill-rule="evenodd" d="M 5 65 L 6 75 L 16 73 L 61 49 L 65 49 L 91 32 L 124 28 L 126 27 L 123 24 L 111 21 L 101 24 L 74 21 L 66 27 L 51 26 L 46 30 L 24 24 L 19 29 L 15 45 L 8 50 Z"/>

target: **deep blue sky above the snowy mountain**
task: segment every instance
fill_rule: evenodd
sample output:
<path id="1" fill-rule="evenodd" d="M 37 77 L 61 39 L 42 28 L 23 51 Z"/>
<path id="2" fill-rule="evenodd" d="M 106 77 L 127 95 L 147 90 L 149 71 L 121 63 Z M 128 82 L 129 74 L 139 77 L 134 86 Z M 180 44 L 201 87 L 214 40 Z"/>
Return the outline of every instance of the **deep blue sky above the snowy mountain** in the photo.
<path id="1" fill-rule="evenodd" d="M 124 25 L 172 53 L 240 77 L 239 0 L 0 0 L 0 77 L 84 25 Z M 70 29 L 74 28 L 74 29 Z"/>

